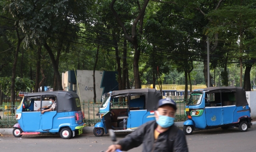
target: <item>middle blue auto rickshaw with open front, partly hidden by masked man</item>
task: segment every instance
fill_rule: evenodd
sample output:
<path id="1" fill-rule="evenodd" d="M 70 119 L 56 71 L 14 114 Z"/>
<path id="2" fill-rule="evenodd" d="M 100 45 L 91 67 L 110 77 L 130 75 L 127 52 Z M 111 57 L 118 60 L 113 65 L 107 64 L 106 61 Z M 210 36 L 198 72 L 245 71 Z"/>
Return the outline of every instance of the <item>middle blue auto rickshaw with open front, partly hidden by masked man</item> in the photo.
<path id="1" fill-rule="evenodd" d="M 138 126 L 155 120 L 156 105 L 162 98 L 156 89 L 126 89 L 109 92 L 101 104 L 101 122 L 94 126 L 93 134 L 102 136 L 108 130 L 132 132 Z"/>

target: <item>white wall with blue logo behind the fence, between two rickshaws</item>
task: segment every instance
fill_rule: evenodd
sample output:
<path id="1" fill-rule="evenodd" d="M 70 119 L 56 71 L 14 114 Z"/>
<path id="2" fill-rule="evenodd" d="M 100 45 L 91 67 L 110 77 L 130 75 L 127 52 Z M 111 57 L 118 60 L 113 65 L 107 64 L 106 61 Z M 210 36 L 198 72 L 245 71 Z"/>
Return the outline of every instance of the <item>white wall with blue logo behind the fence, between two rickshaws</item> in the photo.
<path id="1" fill-rule="evenodd" d="M 80 96 L 81 102 L 93 102 L 93 71 L 77 70 L 76 93 Z M 103 88 L 101 88 L 103 71 L 95 71 L 96 102 L 101 102 Z M 80 94 L 80 95 L 79 95 Z"/>

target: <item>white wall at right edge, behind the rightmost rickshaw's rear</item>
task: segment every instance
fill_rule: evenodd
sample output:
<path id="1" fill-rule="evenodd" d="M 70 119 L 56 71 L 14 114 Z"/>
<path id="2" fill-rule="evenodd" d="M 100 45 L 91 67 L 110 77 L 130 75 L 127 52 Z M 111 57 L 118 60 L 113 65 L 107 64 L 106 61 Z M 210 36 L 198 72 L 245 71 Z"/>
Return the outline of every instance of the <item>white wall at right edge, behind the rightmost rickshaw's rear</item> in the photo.
<path id="1" fill-rule="evenodd" d="M 251 117 L 256 118 L 256 91 L 246 91 L 246 98 L 251 108 Z"/>

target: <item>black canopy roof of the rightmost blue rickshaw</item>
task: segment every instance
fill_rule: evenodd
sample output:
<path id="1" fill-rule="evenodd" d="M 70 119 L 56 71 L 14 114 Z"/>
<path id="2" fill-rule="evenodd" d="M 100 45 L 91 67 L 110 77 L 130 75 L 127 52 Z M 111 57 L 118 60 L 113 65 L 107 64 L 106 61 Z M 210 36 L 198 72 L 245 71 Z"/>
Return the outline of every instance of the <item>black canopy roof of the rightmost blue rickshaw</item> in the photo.
<path id="1" fill-rule="evenodd" d="M 236 105 L 237 106 L 244 106 L 248 105 L 247 98 L 246 98 L 246 92 L 242 87 L 209 87 L 204 88 L 203 90 L 209 91 L 209 92 L 235 92 L 236 97 Z"/>

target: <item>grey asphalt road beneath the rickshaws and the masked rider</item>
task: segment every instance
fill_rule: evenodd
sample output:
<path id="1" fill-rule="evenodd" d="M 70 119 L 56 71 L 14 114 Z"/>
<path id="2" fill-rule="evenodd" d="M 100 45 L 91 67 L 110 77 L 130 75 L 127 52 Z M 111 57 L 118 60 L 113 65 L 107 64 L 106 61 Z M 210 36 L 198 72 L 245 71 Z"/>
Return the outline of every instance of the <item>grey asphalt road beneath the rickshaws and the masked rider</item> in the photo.
<path id="1" fill-rule="evenodd" d="M 116 134 L 117 140 L 126 133 Z M 187 135 L 189 152 L 256 152 L 256 125 L 247 132 L 241 133 L 238 128 L 222 130 L 221 128 L 194 131 Z M 109 135 L 95 137 L 93 134 L 82 134 L 69 140 L 59 135 L 23 135 L 15 138 L 12 135 L 0 136 L 1 152 L 100 152 L 106 150 L 112 142 Z M 137 147 L 128 152 L 141 152 Z"/>

